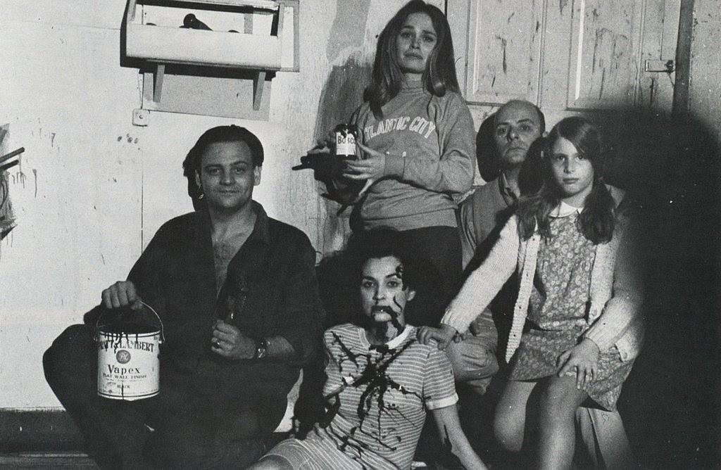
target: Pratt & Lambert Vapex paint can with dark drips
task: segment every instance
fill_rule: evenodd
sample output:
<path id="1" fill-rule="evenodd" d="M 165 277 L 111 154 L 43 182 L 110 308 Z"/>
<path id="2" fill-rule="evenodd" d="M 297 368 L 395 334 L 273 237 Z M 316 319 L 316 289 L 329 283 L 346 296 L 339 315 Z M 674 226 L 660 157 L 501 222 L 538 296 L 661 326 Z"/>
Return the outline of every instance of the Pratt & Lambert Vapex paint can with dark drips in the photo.
<path id="1" fill-rule="evenodd" d="M 160 391 L 159 349 L 164 341 L 163 323 L 157 312 L 148 321 L 141 312 L 108 315 L 96 323 L 97 394 L 132 402 Z M 110 318 L 112 317 L 112 318 Z M 154 324 L 157 319 L 158 324 Z"/>

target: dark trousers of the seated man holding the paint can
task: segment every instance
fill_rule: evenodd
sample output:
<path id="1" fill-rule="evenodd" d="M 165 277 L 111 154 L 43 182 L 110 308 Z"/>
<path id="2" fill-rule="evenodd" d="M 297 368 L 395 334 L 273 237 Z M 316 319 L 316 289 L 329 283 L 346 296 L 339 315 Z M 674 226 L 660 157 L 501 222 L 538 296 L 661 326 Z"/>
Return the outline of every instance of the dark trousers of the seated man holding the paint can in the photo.
<path id="1" fill-rule="evenodd" d="M 270 431 L 258 429 L 257 411 L 229 407 L 203 392 L 207 383 L 162 366 L 158 396 L 135 402 L 98 396 L 97 346 L 88 325 L 68 327 L 45 352 L 43 366 L 103 469 L 244 468 L 266 451 Z"/>

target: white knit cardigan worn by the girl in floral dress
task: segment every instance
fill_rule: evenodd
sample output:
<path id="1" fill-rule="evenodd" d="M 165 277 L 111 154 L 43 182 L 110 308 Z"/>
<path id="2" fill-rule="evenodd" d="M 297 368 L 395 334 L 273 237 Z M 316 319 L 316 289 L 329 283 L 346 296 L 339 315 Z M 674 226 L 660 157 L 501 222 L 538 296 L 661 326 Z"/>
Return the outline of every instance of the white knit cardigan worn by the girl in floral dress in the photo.
<path id="1" fill-rule="evenodd" d="M 612 192 L 612 195 L 616 194 Z M 590 327 L 583 334 L 601 351 L 615 345 L 624 361 L 638 355 L 644 332 L 640 314 L 642 280 L 638 250 L 634 246 L 636 239 L 631 221 L 617 217 L 611 241 L 596 245 L 590 278 Z M 517 269 L 520 285 L 505 353 L 506 360 L 510 360 L 521 343 L 540 241 L 537 231 L 531 238 L 521 240 L 518 218 L 511 217 L 485 262 L 469 275 L 458 296 L 446 309 L 441 323 L 466 332 L 469 324 L 488 306 Z"/>

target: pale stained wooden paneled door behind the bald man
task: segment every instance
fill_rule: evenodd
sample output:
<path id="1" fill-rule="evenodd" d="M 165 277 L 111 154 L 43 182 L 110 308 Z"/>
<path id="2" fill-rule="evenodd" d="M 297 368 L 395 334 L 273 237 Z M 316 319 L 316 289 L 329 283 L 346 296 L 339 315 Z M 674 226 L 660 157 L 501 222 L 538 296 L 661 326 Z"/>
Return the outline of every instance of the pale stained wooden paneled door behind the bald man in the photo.
<path id="1" fill-rule="evenodd" d="M 465 97 L 490 107 L 528 99 L 559 117 L 619 105 L 671 112 L 680 3 L 448 2 Z"/>

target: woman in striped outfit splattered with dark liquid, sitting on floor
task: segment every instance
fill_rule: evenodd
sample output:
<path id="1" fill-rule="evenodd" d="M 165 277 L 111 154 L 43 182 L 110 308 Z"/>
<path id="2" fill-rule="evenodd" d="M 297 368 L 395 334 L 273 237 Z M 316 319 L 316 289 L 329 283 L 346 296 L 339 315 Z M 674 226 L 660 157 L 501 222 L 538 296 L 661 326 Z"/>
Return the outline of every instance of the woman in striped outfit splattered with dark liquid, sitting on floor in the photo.
<path id="1" fill-rule="evenodd" d="M 485 469 L 459 425 L 448 358 L 406 323 L 420 275 L 412 258 L 390 231 L 357 242 L 361 314 L 325 332 L 326 413 L 305 439 L 284 440 L 251 468 L 409 469 L 428 409 L 443 451 Z"/>

